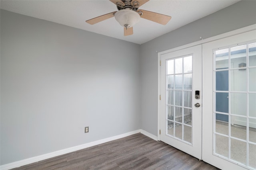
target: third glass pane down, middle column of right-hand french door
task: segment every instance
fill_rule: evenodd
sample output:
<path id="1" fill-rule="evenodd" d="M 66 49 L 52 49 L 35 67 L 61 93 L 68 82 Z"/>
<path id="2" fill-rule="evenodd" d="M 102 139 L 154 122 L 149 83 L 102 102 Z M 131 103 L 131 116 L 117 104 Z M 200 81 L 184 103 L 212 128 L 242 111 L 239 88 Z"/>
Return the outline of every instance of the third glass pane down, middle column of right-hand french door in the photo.
<path id="1" fill-rule="evenodd" d="M 230 93 L 231 114 L 246 116 L 246 93 Z"/>

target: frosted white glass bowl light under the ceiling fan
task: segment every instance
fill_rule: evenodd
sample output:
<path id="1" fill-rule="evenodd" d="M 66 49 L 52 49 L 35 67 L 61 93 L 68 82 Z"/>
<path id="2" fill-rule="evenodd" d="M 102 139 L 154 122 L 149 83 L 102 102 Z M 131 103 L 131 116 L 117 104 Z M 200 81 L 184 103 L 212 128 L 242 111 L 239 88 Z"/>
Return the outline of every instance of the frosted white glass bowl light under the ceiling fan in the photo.
<path id="1" fill-rule="evenodd" d="M 136 23 L 140 21 L 140 15 L 133 10 L 119 10 L 115 14 L 115 19 L 120 23 L 122 27 L 133 27 Z"/>

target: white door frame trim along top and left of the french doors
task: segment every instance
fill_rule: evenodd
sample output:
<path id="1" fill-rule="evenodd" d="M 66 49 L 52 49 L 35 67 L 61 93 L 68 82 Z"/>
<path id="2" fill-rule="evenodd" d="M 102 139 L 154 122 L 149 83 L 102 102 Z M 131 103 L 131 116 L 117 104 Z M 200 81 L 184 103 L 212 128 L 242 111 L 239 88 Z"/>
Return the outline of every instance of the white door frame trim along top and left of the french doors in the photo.
<path id="1" fill-rule="evenodd" d="M 169 50 L 166 50 L 166 51 L 158 52 L 158 96 L 157 96 L 157 100 L 158 100 L 158 113 L 157 113 L 157 115 L 158 115 L 158 135 L 157 135 L 157 139 L 158 139 L 158 141 L 161 140 L 160 139 L 160 133 L 159 133 L 160 132 L 160 100 L 159 100 L 159 96 L 161 94 L 161 88 L 160 88 L 160 85 L 161 85 L 161 66 L 160 66 L 161 55 L 164 55 L 166 53 L 171 53 L 171 52 L 174 52 L 174 51 L 178 51 L 178 50 L 181 50 L 181 49 L 186 49 L 188 47 L 193 47 L 195 45 L 200 45 L 200 44 L 208 43 L 208 42 L 215 41 L 215 40 L 218 40 L 218 39 L 230 37 L 232 35 L 237 35 L 237 34 L 240 34 L 240 33 L 252 31 L 252 30 L 255 30 L 255 29 L 256 29 L 256 24 L 253 24 L 253 25 L 249 25 L 247 27 L 236 29 L 234 31 L 230 31 L 230 32 L 227 32 L 227 33 L 216 35 L 214 37 L 210 37 L 210 38 L 207 38 L 207 39 L 202 39 L 202 40 L 196 41 L 194 43 L 189 43 L 189 44 L 186 44 L 186 45 L 182 45 L 180 47 L 176 47 L 176 48 L 169 49 Z M 202 96 L 204 96 L 203 93 L 202 93 Z"/>

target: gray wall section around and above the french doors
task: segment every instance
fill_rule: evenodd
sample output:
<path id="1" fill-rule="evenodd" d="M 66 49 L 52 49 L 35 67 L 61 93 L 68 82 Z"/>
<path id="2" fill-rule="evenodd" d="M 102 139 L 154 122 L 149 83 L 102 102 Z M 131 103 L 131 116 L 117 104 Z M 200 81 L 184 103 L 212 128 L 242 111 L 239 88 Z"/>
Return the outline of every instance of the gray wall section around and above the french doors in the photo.
<path id="1" fill-rule="evenodd" d="M 140 46 L 141 129 L 157 136 L 158 54 L 256 23 L 256 1 L 240 1 Z"/>

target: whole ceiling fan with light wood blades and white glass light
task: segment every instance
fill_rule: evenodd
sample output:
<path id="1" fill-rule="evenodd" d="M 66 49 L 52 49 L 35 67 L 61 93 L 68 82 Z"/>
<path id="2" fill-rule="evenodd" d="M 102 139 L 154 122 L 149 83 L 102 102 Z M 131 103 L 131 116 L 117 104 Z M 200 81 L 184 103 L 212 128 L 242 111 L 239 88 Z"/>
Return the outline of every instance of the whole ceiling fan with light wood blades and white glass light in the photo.
<path id="1" fill-rule="evenodd" d="M 133 34 L 133 25 L 138 23 L 140 18 L 144 18 L 162 25 L 166 25 L 172 17 L 163 14 L 158 14 L 151 11 L 139 10 L 138 8 L 149 0 L 110 0 L 118 11 L 98 16 L 87 20 L 87 23 L 95 24 L 100 21 L 115 17 L 115 19 L 124 27 L 124 36 Z"/>

